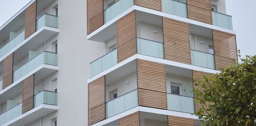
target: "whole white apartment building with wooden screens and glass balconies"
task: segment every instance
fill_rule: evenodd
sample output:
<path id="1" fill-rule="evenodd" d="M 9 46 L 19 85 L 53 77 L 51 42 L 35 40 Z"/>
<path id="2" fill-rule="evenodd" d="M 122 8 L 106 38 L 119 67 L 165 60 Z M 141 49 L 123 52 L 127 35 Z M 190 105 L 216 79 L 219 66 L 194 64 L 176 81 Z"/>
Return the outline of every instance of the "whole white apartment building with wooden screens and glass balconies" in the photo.
<path id="1" fill-rule="evenodd" d="M 237 60 L 225 0 L 31 0 L 0 27 L 0 126 L 200 126 Z"/>

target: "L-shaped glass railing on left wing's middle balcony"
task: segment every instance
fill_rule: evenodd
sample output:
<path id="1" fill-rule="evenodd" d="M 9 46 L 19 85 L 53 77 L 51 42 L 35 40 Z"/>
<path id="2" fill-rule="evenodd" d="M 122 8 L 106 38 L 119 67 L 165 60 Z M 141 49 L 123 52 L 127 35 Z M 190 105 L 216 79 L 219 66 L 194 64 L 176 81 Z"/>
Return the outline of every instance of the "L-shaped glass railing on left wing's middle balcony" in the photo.
<path id="1" fill-rule="evenodd" d="M 17 81 L 22 76 L 25 76 L 42 64 L 57 66 L 57 54 L 44 51 L 41 54 L 37 55 L 36 57 L 34 57 L 34 59 L 31 59 L 29 62 L 13 72 L 13 82 Z"/>

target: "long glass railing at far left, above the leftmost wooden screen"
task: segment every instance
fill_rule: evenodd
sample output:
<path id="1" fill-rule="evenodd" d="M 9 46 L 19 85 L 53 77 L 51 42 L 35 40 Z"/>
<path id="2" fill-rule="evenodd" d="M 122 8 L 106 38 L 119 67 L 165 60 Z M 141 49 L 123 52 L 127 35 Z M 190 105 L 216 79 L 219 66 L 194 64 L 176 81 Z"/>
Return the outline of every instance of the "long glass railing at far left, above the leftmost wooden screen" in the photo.
<path id="1" fill-rule="evenodd" d="M 8 42 L 6 45 L 4 45 L 0 49 L 0 57 L 3 57 L 6 55 L 9 51 L 13 50 L 16 46 L 18 46 L 21 42 L 23 42 L 25 31 L 22 31 L 20 34 L 18 34 L 15 38 L 13 38 L 10 42 Z"/>

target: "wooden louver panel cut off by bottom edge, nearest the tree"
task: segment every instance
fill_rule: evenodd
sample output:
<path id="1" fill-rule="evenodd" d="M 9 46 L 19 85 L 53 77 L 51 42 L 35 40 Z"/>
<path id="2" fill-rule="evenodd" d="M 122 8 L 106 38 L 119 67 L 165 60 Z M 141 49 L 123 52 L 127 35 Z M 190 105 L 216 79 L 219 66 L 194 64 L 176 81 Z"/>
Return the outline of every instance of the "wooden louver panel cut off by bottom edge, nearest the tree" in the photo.
<path id="1" fill-rule="evenodd" d="M 168 116 L 168 126 L 196 126 L 196 120 L 177 116 Z"/>

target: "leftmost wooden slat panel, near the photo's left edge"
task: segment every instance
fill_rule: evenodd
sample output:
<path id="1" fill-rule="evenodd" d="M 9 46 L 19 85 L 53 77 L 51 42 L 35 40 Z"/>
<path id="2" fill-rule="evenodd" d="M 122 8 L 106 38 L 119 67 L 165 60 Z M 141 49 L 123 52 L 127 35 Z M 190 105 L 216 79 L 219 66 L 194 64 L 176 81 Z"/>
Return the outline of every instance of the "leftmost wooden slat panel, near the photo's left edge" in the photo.
<path id="1" fill-rule="evenodd" d="M 13 84 L 13 53 L 3 60 L 3 86 L 2 89 L 7 88 Z"/>

